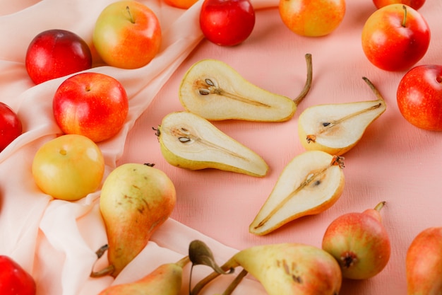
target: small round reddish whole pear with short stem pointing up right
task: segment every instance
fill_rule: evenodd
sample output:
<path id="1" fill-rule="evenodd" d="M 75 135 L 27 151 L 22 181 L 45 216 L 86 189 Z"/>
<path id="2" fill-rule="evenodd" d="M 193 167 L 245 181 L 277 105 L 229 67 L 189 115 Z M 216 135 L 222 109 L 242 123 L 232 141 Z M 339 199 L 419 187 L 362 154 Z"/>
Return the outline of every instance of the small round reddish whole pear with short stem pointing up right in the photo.
<path id="1" fill-rule="evenodd" d="M 390 238 L 374 209 L 339 216 L 325 230 L 322 248 L 338 260 L 342 277 L 369 279 L 381 272 L 390 259 Z"/>

